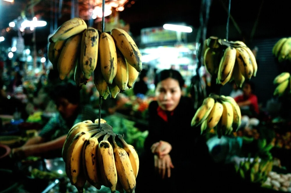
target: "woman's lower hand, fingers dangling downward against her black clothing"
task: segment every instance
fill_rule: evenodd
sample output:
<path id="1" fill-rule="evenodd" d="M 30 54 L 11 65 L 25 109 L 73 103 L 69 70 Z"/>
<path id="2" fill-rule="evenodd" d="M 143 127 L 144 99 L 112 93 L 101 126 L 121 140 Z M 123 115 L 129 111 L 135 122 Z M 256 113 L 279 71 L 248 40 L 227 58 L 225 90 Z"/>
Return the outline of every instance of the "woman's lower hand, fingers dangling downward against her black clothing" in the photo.
<path id="1" fill-rule="evenodd" d="M 165 178 L 166 170 L 168 178 L 171 177 L 171 168 L 174 168 L 172 160 L 169 154 L 159 158 L 157 155 L 154 156 L 155 160 L 155 169 L 159 171 L 159 174 L 162 176 L 162 179 Z"/>

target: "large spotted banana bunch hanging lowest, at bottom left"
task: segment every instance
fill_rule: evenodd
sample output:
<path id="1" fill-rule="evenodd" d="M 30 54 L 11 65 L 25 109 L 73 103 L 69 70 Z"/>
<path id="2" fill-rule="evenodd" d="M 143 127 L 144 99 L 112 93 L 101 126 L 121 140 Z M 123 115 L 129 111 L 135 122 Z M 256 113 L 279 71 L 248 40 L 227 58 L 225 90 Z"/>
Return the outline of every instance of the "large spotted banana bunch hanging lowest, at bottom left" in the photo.
<path id="1" fill-rule="evenodd" d="M 104 119 L 83 121 L 74 125 L 63 145 L 65 171 L 78 192 L 88 181 L 100 190 L 134 192 L 139 171 L 139 157 L 123 136 L 115 134 Z"/>

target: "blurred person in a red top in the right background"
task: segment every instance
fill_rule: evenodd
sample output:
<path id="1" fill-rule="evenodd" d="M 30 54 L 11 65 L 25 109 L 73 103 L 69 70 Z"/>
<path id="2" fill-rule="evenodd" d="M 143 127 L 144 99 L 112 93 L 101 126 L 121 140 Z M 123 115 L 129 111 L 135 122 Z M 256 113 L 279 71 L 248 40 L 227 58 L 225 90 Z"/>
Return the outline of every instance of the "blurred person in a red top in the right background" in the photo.
<path id="1" fill-rule="evenodd" d="M 251 81 L 244 83 L 243 94 L 235 97 L 237 105 L 240 107 L 242 115 L 257 117 L 259 114 L 258 98 L 254 94 L 255 84 Z"/>

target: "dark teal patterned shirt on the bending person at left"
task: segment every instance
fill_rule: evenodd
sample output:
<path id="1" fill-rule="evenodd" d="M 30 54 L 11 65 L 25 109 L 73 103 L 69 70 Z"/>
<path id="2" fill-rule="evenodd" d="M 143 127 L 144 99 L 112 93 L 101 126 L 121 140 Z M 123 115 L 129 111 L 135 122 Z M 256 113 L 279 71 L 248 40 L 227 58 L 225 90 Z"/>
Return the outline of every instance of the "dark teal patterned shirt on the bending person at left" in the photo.
<path id="1" fill-rule="evenodd" d="M 91 120 L 94 123 L 95 119 L 97 119 L 97 114 L 94 109 L 88 106 L 82 106 L 73 125 L 85 120 Z M 45 138 L 46 141 L 52 141 L 58 137 L 68 134 L 73 125 L 68 127 L 61 114 L 57 113 L 54 117 L 50 118 L 48 123 L 44 126 L 44 128 L 42 128 L 38 135 Z"/>

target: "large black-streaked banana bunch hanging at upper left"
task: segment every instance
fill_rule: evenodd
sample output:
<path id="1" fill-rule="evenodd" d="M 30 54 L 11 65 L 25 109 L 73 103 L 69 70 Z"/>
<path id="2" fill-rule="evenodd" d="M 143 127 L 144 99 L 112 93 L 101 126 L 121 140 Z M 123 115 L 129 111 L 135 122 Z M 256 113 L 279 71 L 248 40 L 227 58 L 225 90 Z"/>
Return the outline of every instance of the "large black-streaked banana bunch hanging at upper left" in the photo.
<path id="1" fill-rule="evenodd" d="M 104 99 L 132 88 L 142 70 L 141 53 L 126 31 L 102 33 L 77 17 L 63 23 L 49 38 L 48 58 L 61 80 L 73 71 L 79 87 L 93 74 Z"/>

